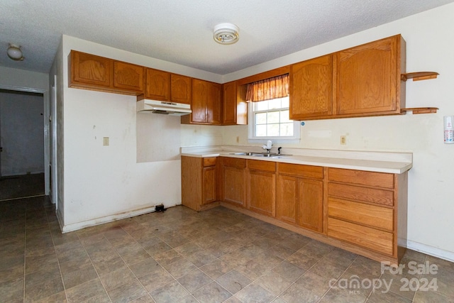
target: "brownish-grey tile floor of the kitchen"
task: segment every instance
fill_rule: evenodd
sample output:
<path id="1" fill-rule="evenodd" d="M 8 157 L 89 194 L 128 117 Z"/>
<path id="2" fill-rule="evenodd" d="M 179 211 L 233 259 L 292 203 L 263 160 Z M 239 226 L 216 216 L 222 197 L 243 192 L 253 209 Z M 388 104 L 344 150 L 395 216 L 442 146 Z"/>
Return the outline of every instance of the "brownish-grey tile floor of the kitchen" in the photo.
<path id="1" fill-rule="evenodd" d="M 454 263 L 382 270 L 223 207 L 62 234 L 44 197 L 1 202 L 0 257 L 0 302 L 454 302 Z"/>

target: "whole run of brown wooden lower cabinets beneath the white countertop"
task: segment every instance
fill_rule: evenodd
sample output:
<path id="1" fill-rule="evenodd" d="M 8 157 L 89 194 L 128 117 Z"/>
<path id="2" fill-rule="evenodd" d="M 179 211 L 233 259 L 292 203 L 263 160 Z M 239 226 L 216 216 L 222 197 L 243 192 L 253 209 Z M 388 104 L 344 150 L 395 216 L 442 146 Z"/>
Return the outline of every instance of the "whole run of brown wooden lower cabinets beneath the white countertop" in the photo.
<path id="1" fill-rule="evenodd" d="M 398 264 L 405 253 L 407 172 L 220 157 L 216 175 L 215 165 L 185 158 L 184 205 L 212 205 L 218 190 L 223 206 L 367 258 Z"/>

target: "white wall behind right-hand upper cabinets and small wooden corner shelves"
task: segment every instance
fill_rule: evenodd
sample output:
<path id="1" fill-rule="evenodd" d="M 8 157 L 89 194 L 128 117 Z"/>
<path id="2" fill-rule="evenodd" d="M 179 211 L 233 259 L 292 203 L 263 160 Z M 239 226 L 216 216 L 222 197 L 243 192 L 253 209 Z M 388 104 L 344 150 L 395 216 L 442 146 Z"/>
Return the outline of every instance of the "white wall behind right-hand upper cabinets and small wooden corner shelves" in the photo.
<path id="1" fill-rule="evenodd" d="M 409 248 L 454 260 L 454 145 L 443 143 L 443 116 L 454 115 L 454 4 L 318 45 L 224 77 L 231 81 L 354 45 L 402 34 L 406 71 L 433 71 L 438 79 L 406 83 L 406 107 L 435 106 L 437 114 L 306 121 L 300 148 L 410 151 Z M 247 144 L 247 126 L 223 128 L 223 143 Z M 340 145 L 340 136 L 347 145 Z M 284 147 L 286 145 L 283 145 Z M 283 148 L 284 151 L 284 148 Z"/>

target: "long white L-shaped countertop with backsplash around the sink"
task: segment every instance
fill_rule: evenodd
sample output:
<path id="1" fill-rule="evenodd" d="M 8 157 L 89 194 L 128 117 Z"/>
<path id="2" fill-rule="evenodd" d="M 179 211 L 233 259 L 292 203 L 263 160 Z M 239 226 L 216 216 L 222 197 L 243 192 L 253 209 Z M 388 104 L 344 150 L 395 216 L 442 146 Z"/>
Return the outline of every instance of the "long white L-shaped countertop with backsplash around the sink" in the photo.
<path id="1" fill-rule="evenodd" d="M 250 160 L 284 162 L 302 165 L 345 168 L 350 170 L 366 170 L 370 172 L 388 172 L 402 174 L 413 166 L 412 153 L 394 153 L 380 151 L 356 150 L 314 150 L 303 148 L 282 148 L 284 155 L 280 158 L 265 158 L 253 155 L 233 155 L 233 153 L 255 152 L 263 150 L 250 146 L 211 146 L 183 147 L 181 155 L 189 157 L 231 157 Z M 275 153 L 274 150 L 272 150 Z"/>

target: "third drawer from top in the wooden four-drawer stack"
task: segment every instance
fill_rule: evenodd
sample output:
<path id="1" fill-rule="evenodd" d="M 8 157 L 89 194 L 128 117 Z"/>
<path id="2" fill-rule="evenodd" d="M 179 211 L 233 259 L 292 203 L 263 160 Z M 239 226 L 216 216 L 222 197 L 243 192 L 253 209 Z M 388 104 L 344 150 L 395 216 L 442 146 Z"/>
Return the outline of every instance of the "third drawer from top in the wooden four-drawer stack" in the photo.
<path id="1" fill-rule="evenodd" d="M 328 216 L 393 231 L 393 209 L 328 198 Z"/>

